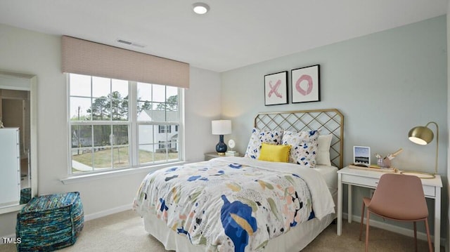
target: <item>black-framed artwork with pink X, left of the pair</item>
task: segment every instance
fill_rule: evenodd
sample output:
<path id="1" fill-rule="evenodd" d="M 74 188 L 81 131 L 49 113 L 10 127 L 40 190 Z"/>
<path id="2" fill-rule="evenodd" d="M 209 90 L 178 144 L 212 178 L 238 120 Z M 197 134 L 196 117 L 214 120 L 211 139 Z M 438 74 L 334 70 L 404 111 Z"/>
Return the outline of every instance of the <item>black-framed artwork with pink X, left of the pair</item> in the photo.
<path id="1" fill-rule="evenodd" d="M 288 71 L 264 75 L 264 105 L 288 103 Z"/>

